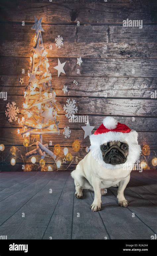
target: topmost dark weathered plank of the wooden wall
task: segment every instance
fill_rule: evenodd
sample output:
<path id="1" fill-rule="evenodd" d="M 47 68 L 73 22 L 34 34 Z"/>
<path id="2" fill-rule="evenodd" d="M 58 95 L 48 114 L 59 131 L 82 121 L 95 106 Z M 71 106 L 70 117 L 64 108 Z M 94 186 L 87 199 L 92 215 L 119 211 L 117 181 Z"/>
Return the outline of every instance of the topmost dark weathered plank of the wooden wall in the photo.
<path id="1" fill-rule="evenodd" d="M 122 24 L 124 19 L 143 20 L 153 23 L 155 18 L 154 1 L 141 4 L 138 1 L 127 3 L 7 3 L 1 11 L 2 21 L 33 22 L 34 15 L 43 17 L 43 23 L 68 24 L 79 21 L 81 24 Z M 123 12 L 122 12 L 123 10 Z M 43 15 L 43 13 L 45 15 Z M 53 14 L 53 15 L 52 15 Z"/>

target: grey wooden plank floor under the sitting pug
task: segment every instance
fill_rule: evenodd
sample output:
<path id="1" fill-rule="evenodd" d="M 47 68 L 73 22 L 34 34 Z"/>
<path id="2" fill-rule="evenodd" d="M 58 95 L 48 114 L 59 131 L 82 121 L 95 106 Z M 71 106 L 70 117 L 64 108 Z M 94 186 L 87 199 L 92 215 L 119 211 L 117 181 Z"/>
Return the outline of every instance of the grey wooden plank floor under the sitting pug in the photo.
<path id="1" fill-rule="evenodd" d="M 118 206 L 117 188 L 108 189 L 100 212 L 90 210 L 93 192 L 74 197 L 69 171 L 0 172 L 0 191 L 0 235 L 7 239 L 151 239 L 157 233 L 155 170 L 132 171 L 127 208 Z"/>

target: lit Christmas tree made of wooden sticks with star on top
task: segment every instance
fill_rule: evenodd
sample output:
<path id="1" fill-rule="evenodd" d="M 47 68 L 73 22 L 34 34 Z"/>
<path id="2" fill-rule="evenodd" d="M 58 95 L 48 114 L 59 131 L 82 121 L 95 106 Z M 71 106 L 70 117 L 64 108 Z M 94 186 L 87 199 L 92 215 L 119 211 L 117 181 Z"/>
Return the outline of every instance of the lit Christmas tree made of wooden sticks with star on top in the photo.
<path id="1" fill-rule="evenodd" d="M 25 102 L 23 104 L 22 114 L 22 136 L 24 143 L 29 135 L 39 135 L 39 141 L 36 141 L 36 148 L 26 153 L 26 157 L 39 154 L 41 159 L 46 154 L 54 159 L 56 155 L 48 149 L 48 144 L 42 144 L 43 134 L 59 134 L 56 93 L 51 85 L 51 73 L 48 70 L 49 63 L 47 52 L 44 49 L 41 32 L 44 32 L 41 26 L 42 18 L 37 20 L 31 29 L 36 31 L 34 37 L 34 46 L 31 49 L 30 68 L 28 71 L 29 81 L 24 93 Z M 26 143 L 25 143 L 26 144 Z"/>

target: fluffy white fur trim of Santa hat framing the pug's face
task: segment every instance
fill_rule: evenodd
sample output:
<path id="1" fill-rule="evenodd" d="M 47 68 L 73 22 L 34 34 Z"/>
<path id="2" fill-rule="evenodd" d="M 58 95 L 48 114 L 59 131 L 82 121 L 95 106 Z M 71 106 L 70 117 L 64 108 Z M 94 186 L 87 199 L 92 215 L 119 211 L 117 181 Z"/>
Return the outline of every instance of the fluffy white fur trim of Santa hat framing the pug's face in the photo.
<path id="1" fill-rule="evenodd" d="M 138 160 L 141 153 L 141 147 L 138 145 L 137 136 L 138 133 L 135 130 L 131 130 L 128 133 L 109 131 L 101 134 L 92 134 L 89 136 L 92 156 L 106 169 L 119 169 L 123 168 L 125 164 L 134 164 Z M 112 165 L 103 161 L 100 145 L 104 144 L 105 142 L 114 140 L 126 142 L 129 145 L 129 152 L 126 163 Z"/>

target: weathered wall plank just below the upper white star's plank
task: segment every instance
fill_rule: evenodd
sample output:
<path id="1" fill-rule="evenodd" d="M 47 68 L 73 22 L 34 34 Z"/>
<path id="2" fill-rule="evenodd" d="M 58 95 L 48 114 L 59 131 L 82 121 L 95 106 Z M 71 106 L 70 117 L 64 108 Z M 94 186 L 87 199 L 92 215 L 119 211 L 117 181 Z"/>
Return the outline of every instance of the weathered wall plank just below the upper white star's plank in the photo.
<path id="1" fill-rule="evenodd" d="M 23 76 L 22 76 L 23 77 Z M 0 91 L 8 95 L 24 95 L 29 77 L 24 77 L 24 84 L 19 83 L 20 76 L 0 76 Z M 52 78 L 52 85 L 57 96 L 107 97 L 112 98 L 149 98 L 157 88 L 157 78 L 125 77 L 77 77 L 78 85 L 73 83 L 75 77 Z M 62 91 L 68 86 L 68 93 Z"/>

